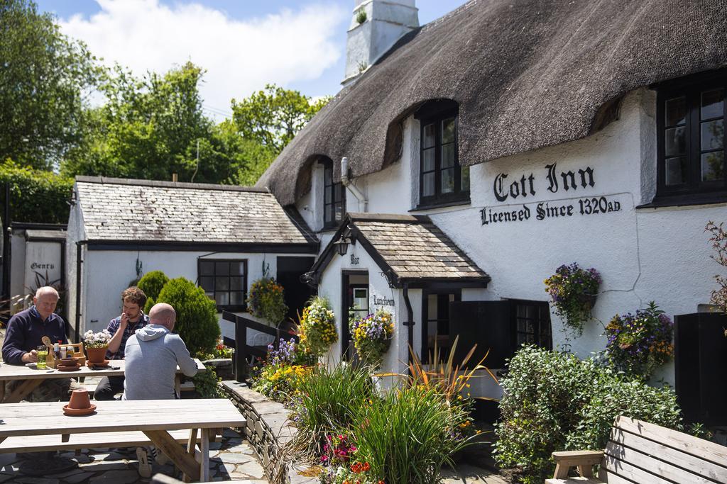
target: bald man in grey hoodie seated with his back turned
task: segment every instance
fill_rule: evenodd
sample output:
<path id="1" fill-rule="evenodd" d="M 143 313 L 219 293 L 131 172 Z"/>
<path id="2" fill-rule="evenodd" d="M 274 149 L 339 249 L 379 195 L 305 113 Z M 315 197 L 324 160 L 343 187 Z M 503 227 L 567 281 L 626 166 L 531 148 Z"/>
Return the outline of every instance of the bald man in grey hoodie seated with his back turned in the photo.
<path id="1" fill-rule="evenodd" d="M 171 305 L 155 304 L 149 311 L 149 324 L 126 340 L 124 400 L 179 398 L 174 391 L 177 365 L 188 377 L 197 374 L 197 364 L 184 341 L 172 333 L 176 321 Z"/>

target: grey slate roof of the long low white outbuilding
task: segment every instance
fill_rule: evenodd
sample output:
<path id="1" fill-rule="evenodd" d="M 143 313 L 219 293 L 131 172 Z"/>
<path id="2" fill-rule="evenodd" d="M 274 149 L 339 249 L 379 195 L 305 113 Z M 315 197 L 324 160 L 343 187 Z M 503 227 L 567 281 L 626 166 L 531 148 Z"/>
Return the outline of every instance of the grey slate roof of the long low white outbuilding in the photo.
<path id="1" fill-rule="evenodd" d="M 242 186 L 76 177 L 89 241 L 300 245 L 318 240 L 270 192 Z"/>

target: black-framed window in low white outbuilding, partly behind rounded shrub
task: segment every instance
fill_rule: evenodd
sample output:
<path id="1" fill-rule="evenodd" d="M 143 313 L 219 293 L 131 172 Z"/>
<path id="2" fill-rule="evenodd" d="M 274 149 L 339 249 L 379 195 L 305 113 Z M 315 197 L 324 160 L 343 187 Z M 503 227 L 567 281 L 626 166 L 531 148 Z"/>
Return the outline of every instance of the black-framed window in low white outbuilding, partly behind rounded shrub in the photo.
<path id="1" fill-rule="evenodd" d="M 245 259 L 198 259 L 199 286 L 213 299 L 217 309 L 244 311 L 247 298 Z"/>

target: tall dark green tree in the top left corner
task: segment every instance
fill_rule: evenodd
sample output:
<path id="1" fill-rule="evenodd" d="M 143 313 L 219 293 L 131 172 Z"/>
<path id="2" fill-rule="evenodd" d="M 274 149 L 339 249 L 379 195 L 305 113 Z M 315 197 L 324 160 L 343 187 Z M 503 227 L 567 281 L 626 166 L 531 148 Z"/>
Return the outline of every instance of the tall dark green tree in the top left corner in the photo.
<path id="1" fill-rule="evenodd" d="M 0 160 L 48 170 L 84 134 L 101 68 L 30 0 L 0 0 Z"/>

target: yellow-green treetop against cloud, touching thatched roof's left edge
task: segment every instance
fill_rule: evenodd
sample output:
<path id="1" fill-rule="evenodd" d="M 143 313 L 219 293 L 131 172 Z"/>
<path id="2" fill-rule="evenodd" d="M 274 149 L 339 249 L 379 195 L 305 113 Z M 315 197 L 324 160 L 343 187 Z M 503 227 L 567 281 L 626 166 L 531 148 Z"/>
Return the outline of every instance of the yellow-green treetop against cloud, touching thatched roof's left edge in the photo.
<path id="1" fill-rule="evenodd" d="M 232 100 L 233 120 L 245 139 L 257 141 L 278 155 L 330 99 L 313 101 L 299 91 L 267 84 L 240 102 Z"/>

